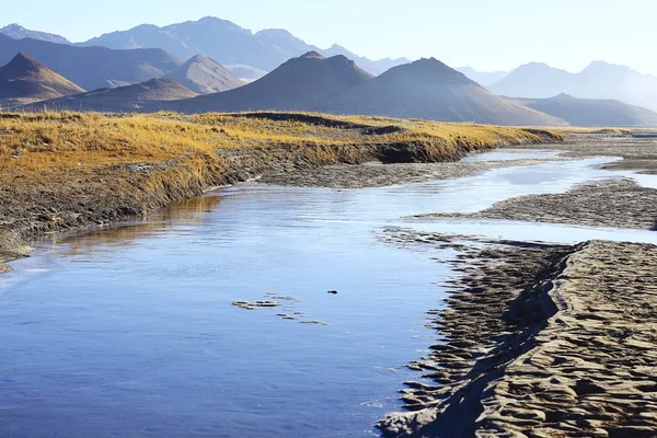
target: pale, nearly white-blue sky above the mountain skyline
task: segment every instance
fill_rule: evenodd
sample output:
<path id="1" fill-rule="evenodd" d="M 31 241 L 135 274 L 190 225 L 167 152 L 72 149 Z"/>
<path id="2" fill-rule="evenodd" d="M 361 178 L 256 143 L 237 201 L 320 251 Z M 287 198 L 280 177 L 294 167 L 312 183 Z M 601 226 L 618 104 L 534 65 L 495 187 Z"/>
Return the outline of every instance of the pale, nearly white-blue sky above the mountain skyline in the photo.
<path id="1" fill-rule="evenodd" d="M 141 23 L 214 15 L 253 31 L 287 28 L 370 58 L 434 56 L 450 66 L 510 69 L 543 61 L 576 71 L 591 60 L 657 74 L 655 0 L 2 0 L 0 26 L 74 42 Z"/>

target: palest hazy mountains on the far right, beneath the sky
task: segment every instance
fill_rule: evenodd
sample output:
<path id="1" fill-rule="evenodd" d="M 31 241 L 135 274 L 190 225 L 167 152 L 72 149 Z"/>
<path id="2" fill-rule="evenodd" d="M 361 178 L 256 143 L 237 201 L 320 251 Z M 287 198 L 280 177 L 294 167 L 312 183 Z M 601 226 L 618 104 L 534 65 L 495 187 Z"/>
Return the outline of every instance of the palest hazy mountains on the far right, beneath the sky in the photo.
<path id="1" fill-rule="evenodd" d="M 544 64 L 528 64 L 488 89 L 509 97 L 548 99 L 566 93 L 575 97 L 616 100 L 657 110 L 657 77 L 603 61 L 593 61 L 577 73 Z"/>

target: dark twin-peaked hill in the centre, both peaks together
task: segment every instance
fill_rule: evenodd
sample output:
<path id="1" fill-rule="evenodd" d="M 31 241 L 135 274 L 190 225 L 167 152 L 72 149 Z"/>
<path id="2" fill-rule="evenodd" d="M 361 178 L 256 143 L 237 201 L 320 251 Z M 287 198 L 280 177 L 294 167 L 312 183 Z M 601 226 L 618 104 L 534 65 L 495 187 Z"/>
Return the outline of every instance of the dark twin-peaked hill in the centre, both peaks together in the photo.
<path id="1" fill-rule="evenodd" d="M 320 111 L 477 122 L 506 125 L 565 125 L 522 104 L 498 97 L 436 59 L 395 67 L 373 77 L 338 55 L 316 51 L 293 58 L 240 89 L 170 102 L 149 111 Z"/>

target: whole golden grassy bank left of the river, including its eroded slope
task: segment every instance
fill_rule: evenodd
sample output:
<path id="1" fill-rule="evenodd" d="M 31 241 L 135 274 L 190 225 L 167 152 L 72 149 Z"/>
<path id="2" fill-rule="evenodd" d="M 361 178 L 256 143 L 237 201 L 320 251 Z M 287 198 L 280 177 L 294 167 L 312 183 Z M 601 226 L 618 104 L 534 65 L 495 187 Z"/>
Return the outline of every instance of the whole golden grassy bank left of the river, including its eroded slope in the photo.
<path id="1" fill-rule="evenodd" d="M 211 186 L 334 163 L 454 161 L 537 129 L 318 114 L 0 114 L 0 258 L 48 232 L 141 217 Z"/>

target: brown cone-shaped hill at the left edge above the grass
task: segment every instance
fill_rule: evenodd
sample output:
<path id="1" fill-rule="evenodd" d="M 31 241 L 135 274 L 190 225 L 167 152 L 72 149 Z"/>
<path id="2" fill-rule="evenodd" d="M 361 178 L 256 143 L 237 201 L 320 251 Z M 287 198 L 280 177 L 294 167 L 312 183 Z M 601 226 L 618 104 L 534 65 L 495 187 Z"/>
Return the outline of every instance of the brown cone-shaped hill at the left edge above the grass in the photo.
<path id="1" fill-rule="evenodd" d="M 80 87 L 25 54 L 0 67 L 0 105 L 11 107 L 83 93 Z"/>

